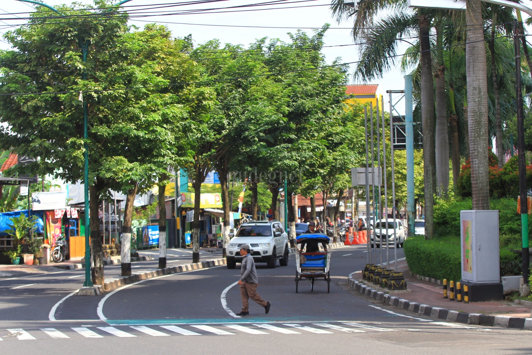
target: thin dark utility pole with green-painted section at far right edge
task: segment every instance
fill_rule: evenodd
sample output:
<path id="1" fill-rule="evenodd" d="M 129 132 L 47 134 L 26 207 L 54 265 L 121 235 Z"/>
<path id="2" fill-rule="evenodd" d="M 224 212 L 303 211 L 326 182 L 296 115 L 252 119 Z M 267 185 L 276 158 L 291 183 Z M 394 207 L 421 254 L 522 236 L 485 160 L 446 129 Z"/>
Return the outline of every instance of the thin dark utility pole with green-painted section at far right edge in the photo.
<path id="1" fill-rule="evenodd" d="M 517 21 L 513 21 L 513 42 L 516 51 L 516 102 L 517 102 L 517 152 L 519 164 L 519 199 L 521 202 L 521 238 L 522 238 L 522 271 L 524 284 L 528 284 L 528 199 L 525 157 L 525 114 L 523 113 L 523 94 L 521 92 L 521 47 Z"/>

